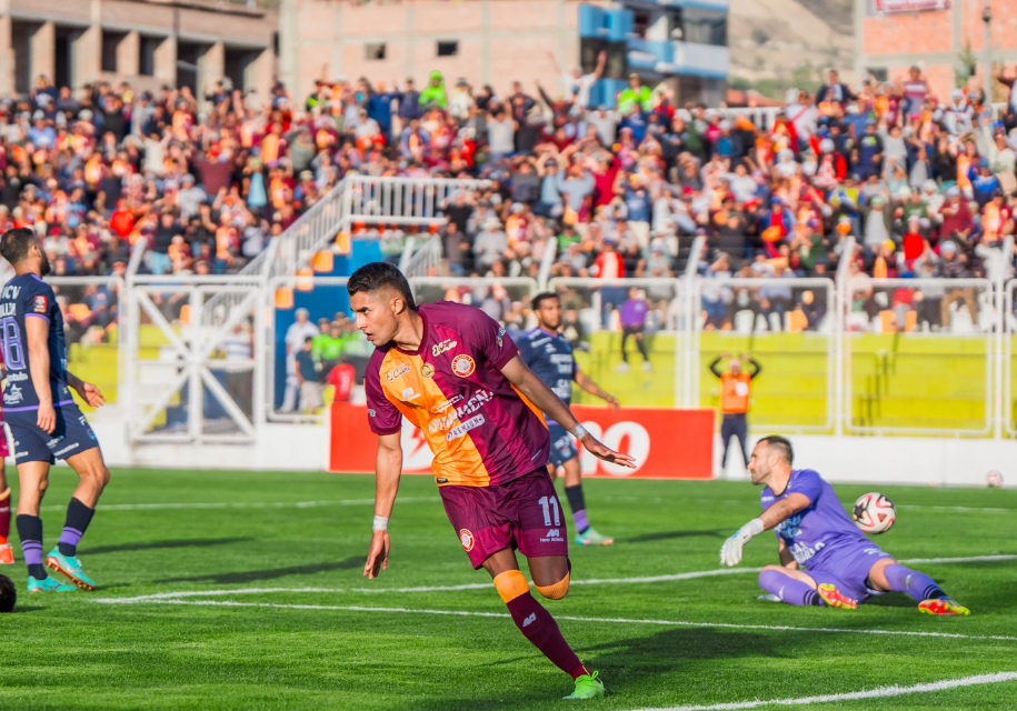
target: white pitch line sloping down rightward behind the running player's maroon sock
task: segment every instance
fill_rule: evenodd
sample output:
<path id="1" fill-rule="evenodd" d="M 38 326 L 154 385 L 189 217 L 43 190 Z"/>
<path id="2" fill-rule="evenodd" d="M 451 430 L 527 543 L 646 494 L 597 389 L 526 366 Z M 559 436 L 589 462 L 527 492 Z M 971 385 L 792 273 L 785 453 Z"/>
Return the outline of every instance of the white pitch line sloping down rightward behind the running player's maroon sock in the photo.
<path id="1" fill-rule="evenodd" d="M 208 608 L 268 608 L 272 610 L 332 610 L 340 612 L 400 612 L 407 614 L 441 614 L 463 618 L 508 618 L 511 617 L 505 612 L 477 612 L 470 610 L 435 610 L 417 608 L 371 608 L 359 604 L 285 604 L 277 602 L 236 602 L 233 600 L 180 600 L 182 595 L 176 598 L 163 598 L 159 600 L 146 600 L 152 604 L 187 604 Z M 99 599 L 94 602 L 119 603 L 124 599 Z M 959 640 L 994 640 L 1001 642 L 1017 642 L 1017 637 L 1006 637 L 1000 634 L 960 634 L 956 632 L 916 632 L 909 630 L 866 630 L 851 628 L 834 627 L 790 627 L 787 624 L 732 624 L 729 622 L 689 622 L 686 620 L 645 620 L 640 618 L 588 618 L 570 614 L 556 614 L 556 620 L 567 620 L 570 622 L 596 622 L 612 624 L 652 624 L 656 627 L 691 627 L 691 628 L 720 628 L 728 630 L 777 630 L 781 632 L 824 632 L 828 634 L 881 634 L 888 637 L 939 637 Z"/>

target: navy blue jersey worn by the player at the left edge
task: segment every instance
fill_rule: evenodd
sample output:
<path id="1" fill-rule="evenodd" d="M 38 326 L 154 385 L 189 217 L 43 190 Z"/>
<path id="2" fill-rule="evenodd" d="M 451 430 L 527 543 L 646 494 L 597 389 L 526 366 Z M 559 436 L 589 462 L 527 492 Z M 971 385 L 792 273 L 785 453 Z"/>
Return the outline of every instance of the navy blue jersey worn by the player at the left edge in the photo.
<path id="1" fill-rule="evenodd" d="M 44 319 L 49 324 L 49 372 L 54 407 L 73 402 L 67 388 L 67 346 L 63 341 L 63 316 L 53 289 L 36 274 L 14 277 L 0 293 L 0 338 L 7 385 L 3 409 L 7 412 L 39 409 L 39 395 L 29 370 L 28 319 Z"/>

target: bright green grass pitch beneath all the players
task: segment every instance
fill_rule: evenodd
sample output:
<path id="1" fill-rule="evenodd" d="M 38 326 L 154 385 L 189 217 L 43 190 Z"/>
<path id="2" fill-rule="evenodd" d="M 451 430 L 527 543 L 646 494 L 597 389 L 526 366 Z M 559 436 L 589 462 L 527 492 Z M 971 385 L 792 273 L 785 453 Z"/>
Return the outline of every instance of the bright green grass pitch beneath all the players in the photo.
<path id="1" fill-rule="evenodd" d="M 73 474 L 52 479 L 47 550 Z M 751 572 L 634 582 L 717 570 L 725 537 L 758 512 L 758 490 L 610 480 L 586 489 L 592 522 L 618 542 L 571 547 L 572 579 L 617 582 L 574 584 L 546 605 L 600 670 L 612 692 L 604 701 L 559 700 L 570 680 L 501 617 L 427 477 L 403 478 L 389 570 L 368 583 L 371 477 L 121 469 L 79 549 L 99 590 L 29 597 L 20 550 L 18 565 L 0 569 L 20 594 L 18 611 L 0 615 L 0 709 L 642 709 L 1017 671 L 1017 560 L 914 565 L 971 608 L 966 619 L 919 615 L 904 594 L 855 612 L 761 602 Z M 845 502 L 873 489 L 837 487 Z M 1017 491 L 880 490 L 898 520 L 877 541 L 898 559 L 1017 554 Z M 746 547 L 742 568 L 775 561 L 767 533 Z M 471 583 L 479 587 L 392 591 Z M 227 592 L 98 602 L 196 591 Z M 818 628 L 842 631 L 810 631 Z M 874 630 L 961 637 L 866 633 Z M 1006 681 L 796 708 L 1001 710 L 1015 700 L 1017 681 Z"/>

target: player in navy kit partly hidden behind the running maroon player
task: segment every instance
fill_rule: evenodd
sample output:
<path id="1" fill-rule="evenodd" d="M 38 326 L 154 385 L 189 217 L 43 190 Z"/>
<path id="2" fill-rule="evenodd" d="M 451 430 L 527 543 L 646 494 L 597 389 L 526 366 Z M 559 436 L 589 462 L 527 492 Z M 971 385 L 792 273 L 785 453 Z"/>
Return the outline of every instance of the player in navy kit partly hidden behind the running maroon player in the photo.
<path id="1" fill-rule="evenodd" d="M 592 378 L 579 370 L 572 356 L 572 344 L 558 332 L 561 328 L 561 300 L 558 294 L 538 293 L 534 297 L 532 308 L 538 326 L 519 339 L 519 354 L 529 369 L 566 404 L 571 403 L 575 381 L 577 385 L 617 410 L 618 399 L 605 392 Z M 551 419 L 548 419 L 547 427 L 551 437 L 550 461 L 547 468 L 551 478 L 557 474 L 559 467 L 565 470 L 565 495 L 569 500 L 572 521 L 576 523 L 576 544 L 610 545 L 615 539 L 598 533 L 590 525 L 586 514 L 576 438 Z"/>

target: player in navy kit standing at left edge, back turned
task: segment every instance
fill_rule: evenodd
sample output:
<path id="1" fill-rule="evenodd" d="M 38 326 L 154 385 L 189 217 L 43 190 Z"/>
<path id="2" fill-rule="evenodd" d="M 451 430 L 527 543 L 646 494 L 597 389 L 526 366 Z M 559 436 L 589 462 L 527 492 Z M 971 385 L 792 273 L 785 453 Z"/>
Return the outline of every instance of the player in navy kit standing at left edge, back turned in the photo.
<path id="1" fill-rule="evenodd" d="M 63 317 L 52 288 L 42 281 L 49 260 L 36 233 L 27 228 L 0 238 L 0 254 L 14 268 L 14 278 L 0 291 L 0 341 L 7 384 L 3 411 L 14 443 L 18 468 L 18 534 L 28 565 L 29 592 L 74 588 L 46 572 L 56 570 L 84 590 L 94 582 L 84 574 L 77 548 L 109 482 L 99 442 L 71 397 L 73 389 L 92 407 L 106 402 L 94 385 L 67 370 Z M 80 481 L 67 509 L 59 542 L 42 560 L 39 505 L 53 461 L 63 459 Z"/>

